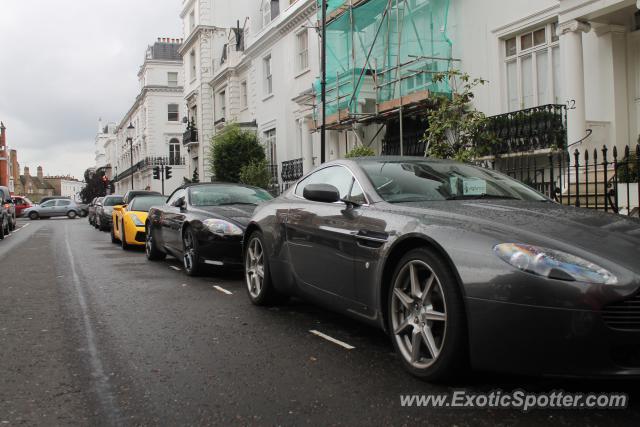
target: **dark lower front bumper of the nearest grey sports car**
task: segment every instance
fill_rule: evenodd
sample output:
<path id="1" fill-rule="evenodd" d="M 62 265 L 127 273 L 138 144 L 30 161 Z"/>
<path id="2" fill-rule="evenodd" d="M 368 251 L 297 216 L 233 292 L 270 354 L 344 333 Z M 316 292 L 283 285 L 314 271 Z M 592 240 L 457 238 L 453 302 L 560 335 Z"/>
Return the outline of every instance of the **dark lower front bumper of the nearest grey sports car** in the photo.
<path id="1" fill-rule="evenodd" d="M 640 377 L 640 330 L 602 312 L 466 298 L 471 364 L 532 375 Z"/>

